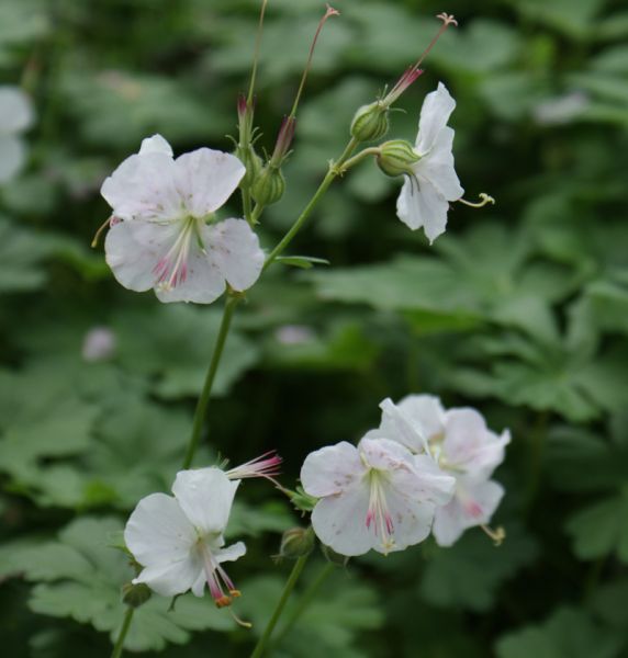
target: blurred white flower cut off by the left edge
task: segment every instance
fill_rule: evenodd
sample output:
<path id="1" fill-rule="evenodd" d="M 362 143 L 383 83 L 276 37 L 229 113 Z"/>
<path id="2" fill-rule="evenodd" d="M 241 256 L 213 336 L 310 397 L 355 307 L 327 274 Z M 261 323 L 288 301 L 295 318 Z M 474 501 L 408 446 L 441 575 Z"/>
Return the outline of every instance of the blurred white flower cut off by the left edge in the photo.
<path id="1" fill-rule="evenodd" d="M 24 166 L 26 148 L 20 133 L 34 118 L 29 97 L 18 87 L 0 87 L 0 183 L 10 181 Z"/>

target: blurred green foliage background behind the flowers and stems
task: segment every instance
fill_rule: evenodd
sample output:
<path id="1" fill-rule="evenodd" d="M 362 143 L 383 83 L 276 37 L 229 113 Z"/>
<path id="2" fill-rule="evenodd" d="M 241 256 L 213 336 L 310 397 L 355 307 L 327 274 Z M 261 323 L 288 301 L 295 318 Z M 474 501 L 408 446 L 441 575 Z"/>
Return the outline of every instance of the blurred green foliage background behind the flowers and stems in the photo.
<path id="1" fill-rule="evenodd" d="M 309 200 L 355 110 L 416 59 L 444 10 L 460 27 L 429 56 L 391 135 L 414 139 L 425 93 L 445 81 L 458 101 L 451 125 L 467 196 L 487 192 L 497 204 L 456 206 L 429 248 L 395 217 L 400 181 L 368 162 L 335 184 L 291 250 L 332 265 L 276 265 L 238 309 L 197 464 L 276 447 L 291 486 L 310 451 L 377 426 L 382 398 L 435 393 L 511 429 L 495 519 L 508 536 L 495 548 L 469 531 L 453 548 L 426 542 L 352 560 L 272 655 L 626 657 L 626 4 L 335 7 L 341 16 L 321 37 L 289 190 L 263 216 L 263 246 Z M 109 213 L 99 188 L 156 132 L 177 152 L 231 149 L 258 9 L 254 0 L 0 3 L 1 82 L 21 84 L 36 112 L 27 167 L 0 189 L 8 656 L 105 656 L 120 625 L 132 571 L 108 535 L 142 496 L 169 489 L 220 303 L 161 305 L 119 286 L 101 248 L 89 248 Z M 257 114 L 268 150 L 323 11 L 318 0 L 269 2 Z M 173 613 L 154 598 L 136 614 L 130 648 L 248 655 L 290 568 L 270 558 L 279 533 L 301 521 L 263 483 L 247 483 L 232 531 L 249 553 L 229 574 L 254 629 L 209 598 L 181 598 Z M 311 560 L 304 587 L 323 560 Z"/>

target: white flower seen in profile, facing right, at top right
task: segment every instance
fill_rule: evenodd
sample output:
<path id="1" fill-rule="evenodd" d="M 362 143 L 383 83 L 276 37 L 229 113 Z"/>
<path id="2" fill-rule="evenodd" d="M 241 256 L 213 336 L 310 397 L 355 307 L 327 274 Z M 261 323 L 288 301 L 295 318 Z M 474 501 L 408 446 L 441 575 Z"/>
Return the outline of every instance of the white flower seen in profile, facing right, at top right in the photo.
<path id="1" fill-rule="evenodd" d="M 453 129 L 447 125 L 456 101 L 442 82 L 425 97 L 418 121 L 415 151 L 420 157 L 413 166 L 397 198 L 399 218 L 413 230 L 423 226 L 433 242 L 447 225 L 449 202 L 464 190 L 453 169 Z"/>

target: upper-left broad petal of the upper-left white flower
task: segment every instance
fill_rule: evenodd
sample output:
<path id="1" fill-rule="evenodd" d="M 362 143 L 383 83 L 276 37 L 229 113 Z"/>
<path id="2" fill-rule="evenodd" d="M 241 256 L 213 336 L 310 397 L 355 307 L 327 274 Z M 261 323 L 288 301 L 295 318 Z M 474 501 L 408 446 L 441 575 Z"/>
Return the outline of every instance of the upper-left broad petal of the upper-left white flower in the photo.
<path id="1" fill-rule="evenodd" d="M 164 152 L 126 158 L 104 181 L 100 193 L 122 219 L 169 222 L 186 216 L 175 161 Z"/>

